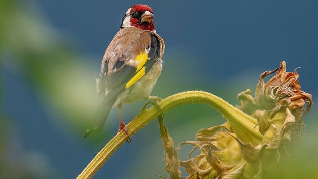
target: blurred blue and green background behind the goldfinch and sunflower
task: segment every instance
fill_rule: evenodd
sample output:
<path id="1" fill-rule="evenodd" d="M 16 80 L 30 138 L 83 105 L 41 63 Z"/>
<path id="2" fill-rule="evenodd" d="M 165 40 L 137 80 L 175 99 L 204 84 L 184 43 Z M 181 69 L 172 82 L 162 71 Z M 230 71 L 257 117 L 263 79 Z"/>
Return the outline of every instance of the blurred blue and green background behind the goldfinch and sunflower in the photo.
<path id="1" fill-rule="evenodd" d="M 259 75 L 285 60 L 300 66 L 303 91 L 313 96 L 296 163 L 277 177 L 318 178 L 317 1 L 0 1 L 0 178 L 75 178 L 116 134 L 111 111 L 103 130 L 83 138 L 95 107 L 94 78 L 124 13 L 152 7 L 166 43 L 165 65 L 152 94 L 161 98 L 201 89 L 238 104 L 255 92 Z M 124 105 L 128 123 L 145 100 Z M 225 122 L 204 105 L 165 114 L 175 145 L 200 128 Z M 181 149 L 186 160 L 191 147 Z M 168 176 L 157 120 L 125 143 L 94 178 Z M 184 170 L 182 170 L 184 172 Z M 185 172 L 184 172 L 185 176 Z"/>

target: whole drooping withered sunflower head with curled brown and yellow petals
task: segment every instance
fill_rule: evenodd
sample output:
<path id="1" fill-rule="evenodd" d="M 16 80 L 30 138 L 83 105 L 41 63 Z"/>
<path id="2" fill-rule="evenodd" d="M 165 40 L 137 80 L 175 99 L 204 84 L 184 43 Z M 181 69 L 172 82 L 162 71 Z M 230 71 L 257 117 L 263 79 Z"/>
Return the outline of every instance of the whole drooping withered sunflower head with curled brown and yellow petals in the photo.
<path id="1" fill-rule="evenodd" d="M 265 83 L 264 78 L 275 72 Z M 187 178 L 264 178 L 282 163 L 312 106 L 311 95 L 301 90 L 298 76 L 296 70 L 286 72 L 283 61 L 280 68 L 261 74 L 255 97 L 249 89 L 238 94 L 241 105 L 237 107 L 258 122 L 257 127 L 247 130 L 258 130 L 262 139 L 253 140 L 258 143 L 243 142 L 252 140 L 244 139 L 251 138 L 246 133 L 238 133 L 242 123 L 231 126 L 229 122 L 201 129 L 195 141 L 181 143 L 177 150 L 185 144 L 200 149 L 199 155 L 178 162 L 189 173 Z"/>

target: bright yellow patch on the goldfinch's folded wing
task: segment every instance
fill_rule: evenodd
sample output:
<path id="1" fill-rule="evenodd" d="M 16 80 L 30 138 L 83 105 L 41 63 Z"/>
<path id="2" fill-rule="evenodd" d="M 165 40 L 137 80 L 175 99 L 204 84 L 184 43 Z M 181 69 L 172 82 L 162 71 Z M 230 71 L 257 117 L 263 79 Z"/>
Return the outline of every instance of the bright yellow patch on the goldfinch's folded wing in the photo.
<path id="1" fill-rule="evenodd" d="M 135 82 L 137 82 L 141 77 L 145 75 L 145 63 L 148 60 L 148 52 L 145 49 L 145 53 L 140 52 L 136 58 L 137 62 L 137 69 L 136 69 L 136 75 L 133 76 L 128 83 L 125 86 L 125 89 L 128 89 L 130 86 L 132 86 Z"/>

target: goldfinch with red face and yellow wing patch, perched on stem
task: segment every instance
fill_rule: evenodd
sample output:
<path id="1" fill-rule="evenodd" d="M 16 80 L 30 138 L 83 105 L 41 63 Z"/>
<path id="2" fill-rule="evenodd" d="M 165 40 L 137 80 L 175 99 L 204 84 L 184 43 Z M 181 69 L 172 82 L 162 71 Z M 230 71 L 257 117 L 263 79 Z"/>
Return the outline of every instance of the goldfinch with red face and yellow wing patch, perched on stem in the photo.
<path id="1" fill-rule="evenodd" d="M 118 109 L 119 129 L 131 142 L 122 119 L 122 105 L 152 99 L 150 93 L 161 74 L 164 40 L 156 33 L 152 9 L 136 4 L 124 14 L 120 30 L 109 43 L 102 59 L 97 82 L 97 109 L 94 125 L 84 137 L 103 127 L 110 110 Z"/>

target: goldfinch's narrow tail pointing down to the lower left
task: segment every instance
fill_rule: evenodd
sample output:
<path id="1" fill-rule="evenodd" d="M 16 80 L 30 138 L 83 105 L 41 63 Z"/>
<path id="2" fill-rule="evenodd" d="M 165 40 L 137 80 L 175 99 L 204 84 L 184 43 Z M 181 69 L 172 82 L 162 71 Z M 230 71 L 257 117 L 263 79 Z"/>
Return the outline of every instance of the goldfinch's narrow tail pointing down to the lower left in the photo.
<path id="1" fill-rule="evenodd" d="M 116 102 L 116 98 L 111 98 L 108 100 L 107 98 L 104 98 L 102 103 L 97 106 L 97 110 L 93 119 L 93 121 L 95 121 L 93 123 L 94 125 L 91 125 L 91 127 L 86 129 L 84 137 L 89 136 L 92 131 L 98 132 L 102 129 L 107 119 L 107 116 L 109 115 L 109 112 L 112 109 L 115 102 Z"/>

